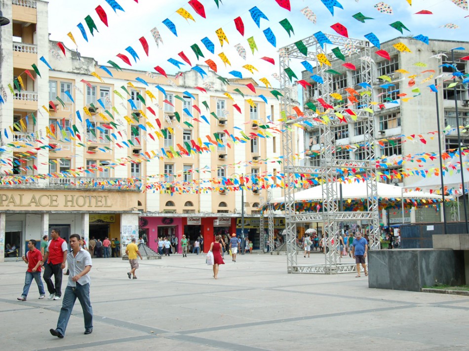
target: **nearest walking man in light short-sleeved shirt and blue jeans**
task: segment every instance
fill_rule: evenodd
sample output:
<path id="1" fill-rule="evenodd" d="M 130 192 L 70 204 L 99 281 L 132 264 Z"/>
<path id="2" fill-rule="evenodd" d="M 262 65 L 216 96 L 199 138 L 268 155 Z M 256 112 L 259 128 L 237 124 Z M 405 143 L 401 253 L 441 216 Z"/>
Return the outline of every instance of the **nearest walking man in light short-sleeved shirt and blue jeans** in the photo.
<path id="1" fill-rule="evenodd" d="M 65 329 L 67 329 L 67 324 L 77 298 L 83 311 L 84 334 L 91 334 L 93 332 L 93 309 L 89 300 L 90 278 L 88 274 L 92 266 L 91 255 L 84 248 L 80 247 L 79 242 L 80 236 L 78 234 L 70 236 L 69 243 L 72 247 L 72 252 L 67 256 L 70 275 L 59 319 L 57 320 L 57 327 L 49 330 L 50 334 L 58 338 L 63 338 L 65 335 Z"/>

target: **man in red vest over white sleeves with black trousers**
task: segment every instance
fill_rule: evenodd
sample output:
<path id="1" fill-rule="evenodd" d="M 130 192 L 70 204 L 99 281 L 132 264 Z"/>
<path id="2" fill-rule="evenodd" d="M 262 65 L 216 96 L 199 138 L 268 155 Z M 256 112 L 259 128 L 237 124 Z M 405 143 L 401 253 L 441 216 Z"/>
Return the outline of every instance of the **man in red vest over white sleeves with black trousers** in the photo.
<path id="1" fill-rule="evenodd" d="M 67 243 L 60 237 L 59 229 L 52 229 L 50 232 L 52 240 L 49 240 L 42 264 L 44 265 L 44 278 L 49 290 L 47 300 L 60 300 L 62 296 L 62 270 L 65 268 L 67 260 Z M 50 279 L 54 275 L 55 286 Z"/>

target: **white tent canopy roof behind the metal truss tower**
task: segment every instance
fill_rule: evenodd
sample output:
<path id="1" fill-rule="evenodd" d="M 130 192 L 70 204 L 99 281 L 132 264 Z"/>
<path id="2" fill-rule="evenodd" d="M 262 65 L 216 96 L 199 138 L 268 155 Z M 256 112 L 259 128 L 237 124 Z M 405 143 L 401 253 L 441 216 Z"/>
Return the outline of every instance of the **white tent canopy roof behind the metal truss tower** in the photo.
<path id="1" fill-rule="evenodd" d="M 337 196 L 340 194 L 340 184 L 342 184 L 342 198 L 348 199 L 363 199 L 367 198 L 367 186 L 364 181 L 352 181 L 340 183 L 338 181 L 333 183 L 336 187 Z M 378 185 L 378 198 L 380 199 L 433 199 L 441 200 L 441 196 L 437 194 L 430 194 L 428 191 L 405 191 L 400 186 L 377 183 Z M 295 202 L 301 201 L 323 201 L 326 198 L 325 185 L 314 186 L 313 188 L 298 191 L 295 193 Z M 272 199 L 270 203 L 278 204 L 285 201 L 284 197 Z"/>

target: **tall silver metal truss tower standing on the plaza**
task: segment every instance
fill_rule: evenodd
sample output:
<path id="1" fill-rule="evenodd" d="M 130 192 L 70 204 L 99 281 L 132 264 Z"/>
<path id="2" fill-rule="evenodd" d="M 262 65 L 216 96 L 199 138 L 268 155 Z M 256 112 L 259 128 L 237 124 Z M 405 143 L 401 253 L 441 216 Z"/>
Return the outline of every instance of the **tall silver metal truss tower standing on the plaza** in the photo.
<path id="1" fill-rule="evenodd" d="M 376 181 L 376 162 L 374 148 L 374 115 L 371 109 L 357 108 L 353 106 L 338 105 L 337 101 L 331 96 L 334 91 L 333 75 L 331 67 L 318 59 L 322 54 L 332 62 L 335 60 L 331 54 L 332 49 L 339 48 L 347 52 L 352 59 L 358 59 L 360 62 L 357 69 L 361 70 L 361 81 L 368 83 L 371 87 L 374 83 L 374 67 L 371 59 L 371 47 L 368 41 L 354 38 L 347 38 L 341 35 L 327 35 L 329 43 L 320 43 L 315 35 L 302 40 L 308 48 L 308 55 L 304 55 L 293 43 L 279 50 L 280 52 L 280 84 L 283 93 L 282 98 L 282 118 L 283 118 L 283 174 L 285 176 L 285 234 L 287 243 L 287 272 L 288 273 L 318 273 L 318 274 L 337 274 L 353 272 L 355 265 L 343 264 L 340 262 L 338 250 L 340 242 L 340 225 L 344 221 L 366 221 L 370 224 L 369 248 L 379 249 L 379 210 L 378 210 L 378 189 Z M 321 55 L 321 56 L 322 56 Z M 324 57 L 324 56 L 322 56 Z M 293 60 L 307 61 L 314 70 L 314 74 L 322 78 L 321 96 L 322 103 L 316 107 L 317 110 L 307 110 L 304 116 L 298 116 L 293 109 L 292 86 L 290 77 L 286 69 L 289 68 Z M 337 59 L 338 60 L 338 59 Z M 319 83 L 318 83 L 319 84 Z M 361 105 L 368 107 L 372 101 L 373 92 L 363 94 Z M 333 106 L 333 108 L 330 108 Z M 327 117 L 327 123 L 318 122 L 318 118 Z M 310 128 L 317 128 L 321 140 L 324 140 L 322 156 L 319 167 L 297 166 L 294 161 L 294 137 L 293 124 L 308 121 Z M 336 144 L 334 127 L 340 124 L 362 123 L 364 135 L 364 157 L 363 160 L 351 161 L 336 157 Z M 306 124 L 305 124 L 306 125 Z M 313 127 L 311 127 L 313 126 Z M 364 211 L 347 212 L 343 210 L 342 201 L 338 190 L 333 183 L 337 180 L 338 170 L 350 168 L 356 164 L 362 172 L 361 176 L 367 184 L 367 194 Z M 312 176 L 322 179 L 324 186 L 324 199 L 322 208 L 317 213 L 298 213 L 295 208 L 295 177 L 298 174 L 303 176 Z M 296 225 L 304 222 L 323 222 L 325 237 L 324 245 L 327 247 L 324 254 L 324 265 L 303 265 L 298 264 L 296 251 Z"/>

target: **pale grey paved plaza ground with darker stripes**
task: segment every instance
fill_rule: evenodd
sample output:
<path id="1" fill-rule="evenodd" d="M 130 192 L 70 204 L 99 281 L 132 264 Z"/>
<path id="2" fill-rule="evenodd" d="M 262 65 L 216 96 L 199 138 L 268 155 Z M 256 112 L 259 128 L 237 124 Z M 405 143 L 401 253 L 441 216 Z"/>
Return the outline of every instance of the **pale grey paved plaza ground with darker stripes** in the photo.
<path id="1" fill-rule="evenodd" d="M 38 300 L 34 281 L 17 301 L 26 264 L 0 263 L 0 350 L 469 350 L 468 297 L 370 289 L 355 274 L 287 274 L 285 256 L 225 259 L 218 280 L 204 255 L 139 261 L 137 280 L 127 261 L 94 259 L 93 333 L 83 335 L 77 301 L 64 339 L 49 334 L 62 301 Z"/>

